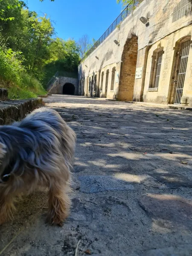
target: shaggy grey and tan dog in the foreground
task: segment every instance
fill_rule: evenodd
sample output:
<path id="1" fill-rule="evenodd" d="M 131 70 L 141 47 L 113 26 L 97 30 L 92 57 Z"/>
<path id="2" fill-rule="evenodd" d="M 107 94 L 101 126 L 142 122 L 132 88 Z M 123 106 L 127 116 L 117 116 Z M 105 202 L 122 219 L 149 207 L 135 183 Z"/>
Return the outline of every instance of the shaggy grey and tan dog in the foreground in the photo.
<path id="1" fill-rule="evenodd" d="M 0 224 L 12 218 L 14 198 L 37 186 L 49 188 L 49 223 L 63 223 L 70 211 L 75 144 L 75 132 L 48 108 L 0 126 Z"/>

